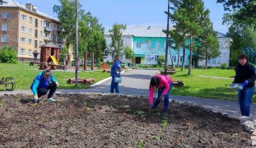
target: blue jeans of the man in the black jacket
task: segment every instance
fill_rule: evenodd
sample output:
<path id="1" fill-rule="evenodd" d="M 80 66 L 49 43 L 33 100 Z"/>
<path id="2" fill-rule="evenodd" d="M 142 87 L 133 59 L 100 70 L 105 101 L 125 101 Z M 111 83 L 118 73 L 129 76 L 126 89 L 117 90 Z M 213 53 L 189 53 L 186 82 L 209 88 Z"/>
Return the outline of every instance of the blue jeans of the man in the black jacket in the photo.
<path id="1" fill-rule="evenodd" d="M 238 90 L 237 92 L 241 114 L 249 117 L 250 104 L 254 95 L 254 86 L 245 87 L 243 90 Z"/>

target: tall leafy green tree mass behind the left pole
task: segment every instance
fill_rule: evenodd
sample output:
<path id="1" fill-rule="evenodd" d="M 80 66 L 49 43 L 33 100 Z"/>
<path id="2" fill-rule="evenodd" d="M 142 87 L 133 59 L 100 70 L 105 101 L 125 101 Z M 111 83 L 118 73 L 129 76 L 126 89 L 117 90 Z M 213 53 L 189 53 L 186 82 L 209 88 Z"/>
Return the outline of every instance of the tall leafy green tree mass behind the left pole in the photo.
<path id="1" fill-rule="evenodd" d="M 58 20 L 61 23 L 63 31 L 61 38 L 64 39 L 67 48 L 70 46 L 75 49 L 75 1 L 74 0 L 59 0 L 60 6 L 54 5 L 54 12 L 58 15 Z M 89 54 L 94 52 L 95 59 L 99 61 L 103 58 L 103 53 L 106 48 L 104 38 L 104 27 L 99 24 L 96 17 L 91 16 L 91 12 L 85 13 L 81 9 L 81 4 L 78 3 L 78 57 L 82 58 L 85 52 Z"/>

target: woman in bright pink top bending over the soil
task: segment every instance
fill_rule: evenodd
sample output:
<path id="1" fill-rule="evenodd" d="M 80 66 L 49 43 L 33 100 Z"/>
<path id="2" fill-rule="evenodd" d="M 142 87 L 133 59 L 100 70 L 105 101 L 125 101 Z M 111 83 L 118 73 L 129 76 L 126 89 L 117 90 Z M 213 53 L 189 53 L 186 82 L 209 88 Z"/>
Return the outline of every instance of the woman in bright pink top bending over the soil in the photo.
<path id="1" fill-rule="evenodd" d="M 149 86 L 149 99 L 151 109 L 156 108 L 156 106 L 161 102 L 162 97 L 165 98 L 164 113 L 168 111 L 169 108 L 169 93 L 173 86 L 173 81 L 170 76 L 156 75 L 151 77 Z M 158 97 L 154 102 L 154 91 L 158 88 Z"/>

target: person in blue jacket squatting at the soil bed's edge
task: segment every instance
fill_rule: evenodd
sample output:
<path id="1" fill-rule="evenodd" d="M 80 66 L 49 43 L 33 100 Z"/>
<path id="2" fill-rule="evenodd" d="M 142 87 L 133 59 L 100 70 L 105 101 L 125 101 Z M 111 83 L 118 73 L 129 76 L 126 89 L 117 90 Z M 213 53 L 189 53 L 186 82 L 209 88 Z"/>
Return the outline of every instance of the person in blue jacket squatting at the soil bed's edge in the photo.
<path id="1" fill-rule="evenodd" d="M 39 98 L 42 95 L 46 95 L 49 90 L 47 102 L 55 102 L 56 99 L 53 99 L 55 90 L 57 89 L 58 81 L 54 78 L 50 68 L 45 69 L 43 72 L 40 72 L 38 76 L 35 76 L 35 79 L 30 86 L 34 94 L 34 103 L 39 103 Z"/>

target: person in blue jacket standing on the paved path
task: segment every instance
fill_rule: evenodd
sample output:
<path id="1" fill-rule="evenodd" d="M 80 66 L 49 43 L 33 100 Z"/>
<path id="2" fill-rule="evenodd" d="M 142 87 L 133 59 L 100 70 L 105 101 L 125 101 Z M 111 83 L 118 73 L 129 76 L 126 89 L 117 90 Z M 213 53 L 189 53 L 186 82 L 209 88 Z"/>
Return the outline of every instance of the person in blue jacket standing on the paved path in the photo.
<path id="1" fill-rule="evenodd" d="M 114 56 L 114 63 L 111 66 L 110 76 L 112 77 L 110 85 L 110 93 L 119 93 L 119 83 L 114 82 L 114 77 L 121 76 L 121 62 L 119 61 L 119 55 Z"/>

